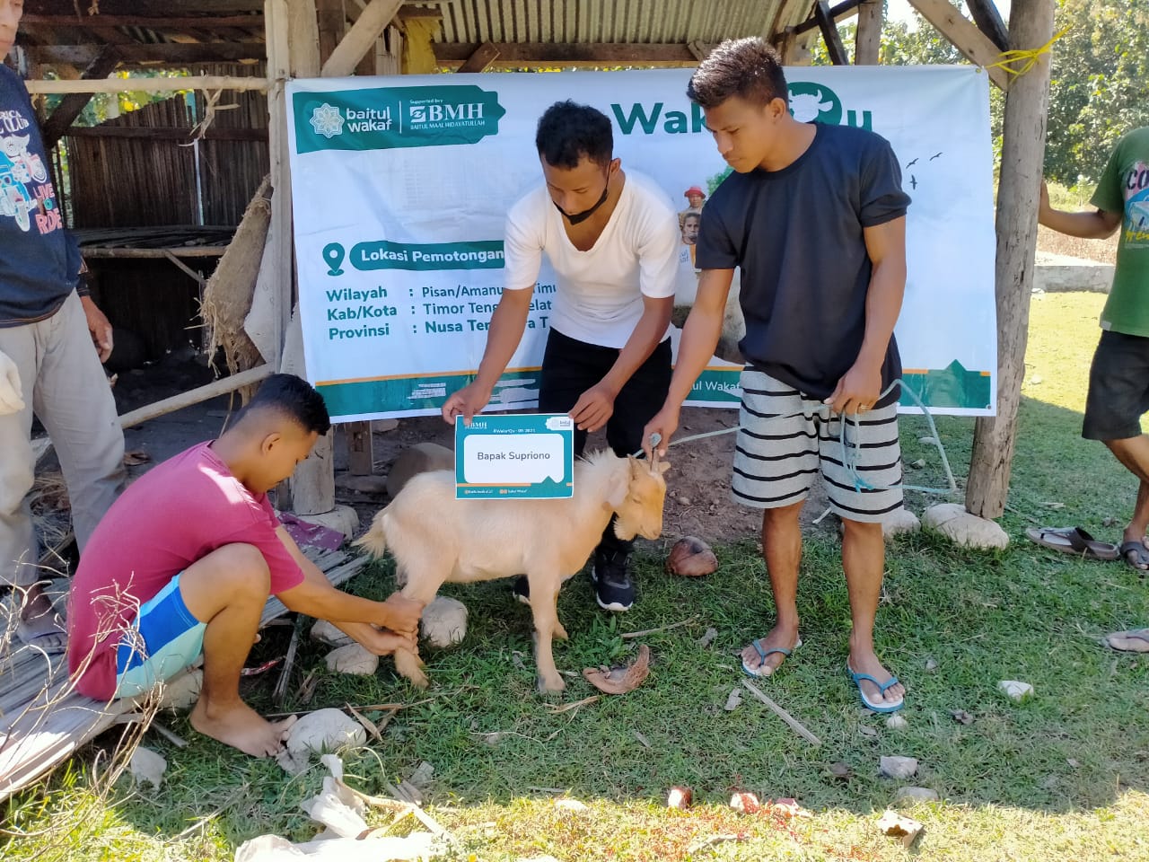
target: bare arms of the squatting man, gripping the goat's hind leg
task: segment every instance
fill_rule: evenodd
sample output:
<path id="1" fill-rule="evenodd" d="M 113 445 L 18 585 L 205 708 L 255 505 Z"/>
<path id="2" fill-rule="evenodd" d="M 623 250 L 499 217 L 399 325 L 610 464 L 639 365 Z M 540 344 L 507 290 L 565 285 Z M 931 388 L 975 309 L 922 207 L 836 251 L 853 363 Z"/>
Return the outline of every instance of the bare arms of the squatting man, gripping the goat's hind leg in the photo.
<path id="1" fill-rule="evenodd" d="M 286 528 L 277 528 L 276 536 L 303 572 L 302 583 L 276 594 L 284 607 L 334 623 L 356 640 L 360 640 L 356 632 L 362 634 L 364 631 L 363 625 L 378 625 L 410 638 L 414 646 L 419 616 L 423 613 L 419 602 L 404 599 L 399 593 L 394 593 L 386 601 L 372 601 L 336 590 L 318 567 L 303 556 L 303 552 L 299 549 L 299 545 Z M 345 628 L 347 625 L 352 629 Z M 370 648 L 368 644 L 363 645 Z"/>

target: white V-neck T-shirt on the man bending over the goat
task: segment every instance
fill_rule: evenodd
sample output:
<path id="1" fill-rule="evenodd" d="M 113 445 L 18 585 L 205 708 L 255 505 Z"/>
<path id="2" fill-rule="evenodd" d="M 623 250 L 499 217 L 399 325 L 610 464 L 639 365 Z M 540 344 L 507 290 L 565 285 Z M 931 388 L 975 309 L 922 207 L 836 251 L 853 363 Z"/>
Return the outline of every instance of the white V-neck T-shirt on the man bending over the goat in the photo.
<path id="1" fill-rule="evenodd" d="M 541 185 L 507 215 L 503 290 L 534 287 L 546 252 L 558 276 L 550 324 L 569 338 L 620 348 L 642 316 L 643 295 L 674 295 L 680 241 L 670 199 L 637 171 L 626 171 L 618 205 L 586 252 L 571 243 Z"/>

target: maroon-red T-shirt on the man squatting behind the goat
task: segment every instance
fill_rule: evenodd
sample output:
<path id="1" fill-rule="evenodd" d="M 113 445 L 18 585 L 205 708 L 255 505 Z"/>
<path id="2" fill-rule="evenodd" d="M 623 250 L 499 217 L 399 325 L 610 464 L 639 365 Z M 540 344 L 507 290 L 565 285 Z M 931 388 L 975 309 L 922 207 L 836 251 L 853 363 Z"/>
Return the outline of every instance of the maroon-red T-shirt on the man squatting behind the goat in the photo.
<path id="1" fill-rule="evenodd" d="M 224 545 L 254 545 L 271 570 L 271 592 L 298 586 L 303 572 L 276 536 L 267 494 L 253 494 L 201 442 L 128 487 L 97 526 L 72 578 L 68 669 L 92 661 L 76 687 L 97 700 L 116 691 L 116 647 L 139 606 L 171 578 Z"/>

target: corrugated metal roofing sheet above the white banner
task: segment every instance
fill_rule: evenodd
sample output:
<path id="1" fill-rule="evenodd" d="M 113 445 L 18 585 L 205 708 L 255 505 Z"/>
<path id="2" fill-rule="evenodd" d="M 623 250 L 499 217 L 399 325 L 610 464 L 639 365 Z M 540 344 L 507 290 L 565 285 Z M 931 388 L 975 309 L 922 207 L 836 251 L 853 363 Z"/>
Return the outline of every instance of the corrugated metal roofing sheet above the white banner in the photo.
<path id="1" fill-rule="evenodd" d="M 805 21 L 812 0 L 452 0 L 444 43 L 718 43 Z"/>

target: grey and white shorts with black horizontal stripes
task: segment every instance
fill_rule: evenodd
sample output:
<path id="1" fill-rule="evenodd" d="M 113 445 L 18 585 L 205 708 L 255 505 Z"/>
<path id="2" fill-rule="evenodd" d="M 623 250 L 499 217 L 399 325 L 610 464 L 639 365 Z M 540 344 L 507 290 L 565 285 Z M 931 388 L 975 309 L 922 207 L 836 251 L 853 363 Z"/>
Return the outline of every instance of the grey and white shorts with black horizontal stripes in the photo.
<path id="1" fill-rule="evenodd" d="M 902 506 L 896 402 L 864 418 L 847 416 L 843 447 L 842 416 L 819 399 L 750 368 L 741 384 L 731 482 L 735 502 L 758 509 L 791 506 L 807 498 L 820 472 L 831 509 L 842 518 L 880 522 Z"/>

